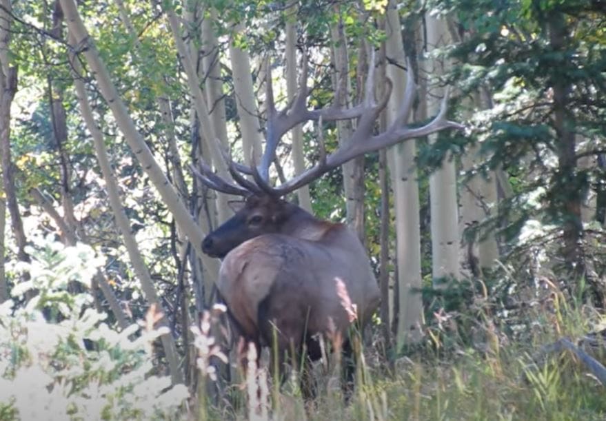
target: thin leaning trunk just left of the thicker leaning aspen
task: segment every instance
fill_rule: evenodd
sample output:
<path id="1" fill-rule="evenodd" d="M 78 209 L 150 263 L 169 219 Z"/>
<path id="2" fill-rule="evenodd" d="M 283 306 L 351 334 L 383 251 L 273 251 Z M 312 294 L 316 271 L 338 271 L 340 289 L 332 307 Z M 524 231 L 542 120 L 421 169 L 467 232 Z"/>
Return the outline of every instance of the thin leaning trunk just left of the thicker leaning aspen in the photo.
<path id="1" fill-rule="evenodd" d="M 73 59 L 72 65 L 74 66 L 74 70 L 76 72 L 79 71 L 77 64 L 78 61 L 76 59 Z M 137 242 L 132 234 L 130 221 L 128 220 L 128 216 L 126 216 L 122 207 L 119 196 L 118 182 L 114 176 L 114 172 L 110 164 L 108 151 L 105 147 L 105 142 L 103 141 L 103 134 L 101 133 L 101 130 L 99 130 L 97 123 L 94 121 L 92 108 L 90 107 L 90 103 L 88 102 L 88 95 L 86 93 L 84 83 L 78 77 L 74 78 L 74 83 L 76 85 L 80 110 L 83 119 L 86 123 L 86 127 L 92 135 L 95 153 L 97 154 L 97 160 L 99 161 L 101 173 L 103 174 L 103 178 L 105 179 L 105 186 L 108 190 L 108 196 L 110 198 L 112 212 L 114 214 L 116 224 L 118 225 L 118 228 L 122 234 L 124 245 L 130 258 L 130 263 L 132 265 L 132 268 L 134 269 L 135 274 L 137 274 L 137 278 L 139 278 L 139 281 L 141 282 L 141 289 L 143 290 L 143 294 L 145 294 L 145 298 L 148 300 L 148 302 L 150 302 L 150 304 L 156 305 L 156 308 L 162 309 L 163 317 L 161 318 L 161 320 L 159 320 L 159 325 L 168 327 L 168 320 L 166 318 L 167 313 L 163 310 L 162 303 L 160 302 L 159 297 L 156 294 L 154 281 L 150 276 L 148 267 L 145 265 L 143 256 L 141 256 L 139 247 L 137 246 Z M 176 351 L 176 346 L 174 344 L 174 339 L 172 338 L 172 333 L 163 334 L 161 336 L 161 341 L 164 348 L 166 360 L 168 361 L 168 365 L 170 367 L 170 376 L 172 378 L 172 383 L 182 383 L 183 375 L 181 373 L 181 370 L 179 369 L 179 355 Z"/>

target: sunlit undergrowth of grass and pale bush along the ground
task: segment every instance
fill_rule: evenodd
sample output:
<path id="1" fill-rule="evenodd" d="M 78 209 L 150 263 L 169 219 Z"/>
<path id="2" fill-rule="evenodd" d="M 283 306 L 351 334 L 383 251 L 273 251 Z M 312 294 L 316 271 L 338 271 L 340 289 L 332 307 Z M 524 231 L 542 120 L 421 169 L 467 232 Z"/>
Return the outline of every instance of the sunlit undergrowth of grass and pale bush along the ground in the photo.
<path id="1" fill-rule="evenodd" d="M 160 330 L 139 323 L 119 332 L 91 307 L 87 292 L 67 294 L 74 282 L 88 285 L 91 268 L 101 264 L 90 249 L 41 244 L 31 254 L 31 281 L 0 306 L 1 420 L 606 418 L 604 385 L 576 355 L 548 346 L 603 331 L 605 320 L 554 284 L 515 312 L 489 299 L 486 288 L 455 294 L 464 298 L 457 305 L 436 298 L 420 343 L 386 356 L 378 337 L 366 338 L 347 398 L 339 358 L 327 356 L 312 367 L 316 398 L 304 402 L 296 372 L 278 382 L 266 368 L 267 351 L 256 367 L 255 349 L 245 373 L 213 392 L 215 363 L 226 360 L 211 328 L 221 309 L 192 328 L 197 386 L 171 388 L 152 346 Z M 28 291 L 36 291 L 33 298 L 26 299 Z M 603 363 L 603 336 L 593 338 L 587 351 Z"/>

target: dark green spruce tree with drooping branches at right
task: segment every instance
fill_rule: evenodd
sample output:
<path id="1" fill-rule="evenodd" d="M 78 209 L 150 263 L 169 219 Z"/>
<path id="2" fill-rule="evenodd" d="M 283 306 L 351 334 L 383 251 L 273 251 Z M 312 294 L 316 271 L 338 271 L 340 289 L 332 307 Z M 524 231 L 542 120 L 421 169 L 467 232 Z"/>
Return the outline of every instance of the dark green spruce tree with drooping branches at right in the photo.
<path id="1" fill-rule="evenodd" d="M 604 235 L 603 14 L 583 1 L 509 1 L 498 8 L 490 1 L 436 1 L 429 7 L 458 25 L 454 46 L 437 54 L 456 63 L 442 82 L 461 89 L 458 110 L 469 116 L 469 130 L 423 145 L 419 165 L 436 167 L 447 153 L 469 154 L 477 145 L 478 164 L 461 183 L 503 169 L 512 190 L 492 218 L 474 228 L 481 236 L 500 234 L 503 261 L 522 267 L 527 250 L 542 247 L 544 262 L 558 262 L 549 274 L 570 288 L 574 267 L 602 273 L 604 260 L 595 258 L 603 249 L 593 238 Z M 563 99 L 558 92 L 565 92 Z M 596 198 L 600 205 L 592 208 Z M 603 283 L 588 282 L 600 305 Z"/>

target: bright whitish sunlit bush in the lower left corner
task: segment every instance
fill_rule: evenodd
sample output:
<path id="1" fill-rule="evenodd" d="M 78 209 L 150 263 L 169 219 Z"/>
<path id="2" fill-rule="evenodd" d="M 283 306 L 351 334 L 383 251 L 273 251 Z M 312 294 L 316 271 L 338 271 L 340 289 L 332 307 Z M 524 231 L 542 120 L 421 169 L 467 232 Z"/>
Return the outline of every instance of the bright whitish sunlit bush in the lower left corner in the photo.
<path id="1" fill-rule="evenodd" d="M 165 329 L 117 331 L 88 292 L 103 265 L 85 245 L 34 238 L 30 280 L 0 306 L 0 413 L 3 419 L 143 419 L 174 414 L 188 391 L 154 367 L 152 342 Z M 36 294 L 23 302 L 24 294 Z"/>

